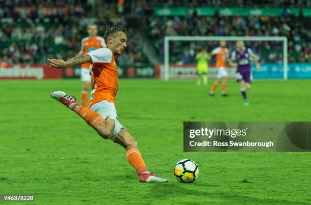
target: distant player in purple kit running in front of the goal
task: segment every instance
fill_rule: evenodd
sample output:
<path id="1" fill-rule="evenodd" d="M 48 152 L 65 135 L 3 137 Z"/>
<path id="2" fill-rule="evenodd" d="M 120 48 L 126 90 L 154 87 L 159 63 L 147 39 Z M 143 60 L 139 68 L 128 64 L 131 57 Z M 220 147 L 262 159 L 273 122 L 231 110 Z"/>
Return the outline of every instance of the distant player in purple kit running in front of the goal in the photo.
<path id="1" fill-rule="evenodd" d="M 232 64 L 237 67 L 236 79 L 240 84 L 240 91 L 244 99 L 244 105 L 249 105 L 246 98 L 245 88 L 251 89 L 251 57 L 254 59 L 256 64 L 256 69 L 259 71 L 259 63 L 255 54 L 252 52 L 250 48 L 244 47 L 243 41 L 236 42 L 237 49 L 232 52 L 231 60 L 236 63 Z"/>

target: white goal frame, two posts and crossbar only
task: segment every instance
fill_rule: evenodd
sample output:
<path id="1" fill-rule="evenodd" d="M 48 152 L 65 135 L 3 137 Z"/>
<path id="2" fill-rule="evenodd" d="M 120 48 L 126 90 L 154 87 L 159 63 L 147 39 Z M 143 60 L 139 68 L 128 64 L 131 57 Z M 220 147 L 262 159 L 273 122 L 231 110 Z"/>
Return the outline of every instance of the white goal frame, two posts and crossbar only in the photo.
<path id="1" fill-rule="evenodd" d="M 285 36 L 166 36 L 164 38 L 164 79 L 169 80 L 169 51 L 170 41 L 281 41 L 283 42 L 283 79 L 287 80 L 288 62 L 287 62 L 287 37 Z"/>

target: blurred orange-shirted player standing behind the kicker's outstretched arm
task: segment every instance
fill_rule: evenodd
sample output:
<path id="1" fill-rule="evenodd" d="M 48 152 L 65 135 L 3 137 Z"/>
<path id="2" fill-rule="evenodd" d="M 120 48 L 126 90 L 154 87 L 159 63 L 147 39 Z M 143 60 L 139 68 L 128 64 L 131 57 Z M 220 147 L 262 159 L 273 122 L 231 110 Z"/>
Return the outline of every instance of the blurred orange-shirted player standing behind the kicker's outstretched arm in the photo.
<path id="1" fill-rule="evenodd" d="M 82 55 L 88 53 L 90 51 L 96 50 L 98 48 L 103 48 L 106 46 L 105 40 L 103 37 L 97 36 L 97 25 L 96 24 L 88 24 L 87 25 L 87 33 L 88 37 L 85 37 L 81 41 L 81 50 L 78 55 Z M 81 93 L 81 105 L 86 106 L 88 99 L 88 86 L 91 81 L 91 77 L 89 75 L 89 66 L 90 64 L 82 64 L 81 66 L 81 81 L 83 82 L 83 89 Z"/>

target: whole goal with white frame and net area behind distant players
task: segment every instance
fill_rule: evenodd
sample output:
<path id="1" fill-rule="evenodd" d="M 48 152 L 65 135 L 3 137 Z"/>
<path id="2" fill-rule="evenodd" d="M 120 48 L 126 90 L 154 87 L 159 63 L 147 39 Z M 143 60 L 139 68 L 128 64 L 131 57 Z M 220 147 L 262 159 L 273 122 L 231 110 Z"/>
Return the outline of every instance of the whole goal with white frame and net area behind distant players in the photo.
<path id="1" fill-rule="evenodd" d="M 228 58 L 236 49 L 236 41 L 244 41 L 245 48 L 251 48 L 260 63 L 260 71 L 252 65 L 254 79 L 287 79 L 288 55 L 287 37 L 237 37 L 237 36 L 166 36 L 164 38 L 164 65 L 162 79 L 194 79 L 197 77 L 196 54 L 203 48 L 211 52 L 226 42 Z M 216 78 L 216 59 L 212 55 L 208 61 L 208 77 Z M 235 78 L 236 68 L 226 64 L 229 78 Z"/>

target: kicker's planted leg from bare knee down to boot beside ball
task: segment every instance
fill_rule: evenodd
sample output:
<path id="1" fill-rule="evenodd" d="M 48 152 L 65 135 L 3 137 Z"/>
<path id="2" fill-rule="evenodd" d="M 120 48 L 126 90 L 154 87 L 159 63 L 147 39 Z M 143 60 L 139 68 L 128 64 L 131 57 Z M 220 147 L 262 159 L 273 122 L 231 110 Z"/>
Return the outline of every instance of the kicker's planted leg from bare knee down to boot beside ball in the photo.
<path id="1" fill-rule="evenodd" d="M 141 157 L 140 151 L 138 150 L 138 144 L 135 138 L 130 135 L 125 129 L 120 129 L 120 132 L 116 136 L 115 143 L 120 144 L 127 150 L 126 157 L 129 163 L 136 169 L 140 176 L 140 182 L 167 182 L 167 179 L 156 177 L 153 173 L 149 172 L 144 160 Z"/>

